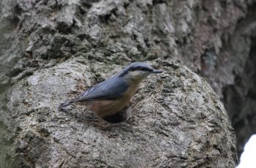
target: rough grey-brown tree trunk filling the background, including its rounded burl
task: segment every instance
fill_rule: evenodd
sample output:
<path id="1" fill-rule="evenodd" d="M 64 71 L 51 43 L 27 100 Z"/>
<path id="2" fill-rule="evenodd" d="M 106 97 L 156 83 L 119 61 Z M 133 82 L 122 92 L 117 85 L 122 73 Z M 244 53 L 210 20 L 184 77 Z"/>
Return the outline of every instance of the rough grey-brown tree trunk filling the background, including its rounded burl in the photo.
<path id="1" fill-rule="evenodd" d="M 7 164 L 118 167 L 132 166 L 138 158 L 136 165 L 153 166 L 154 158 L 159 167 L 205 167 L 216 160 L 213 167 L 233 167 L 235 140 L 225 110 L 203 80 L 183 66 L 168 66 L 164 60 L 169 58 L 206 77 L 219 94 L 239 152 L 255 131 L 254 1 L 0 4 L 1 153 L 15 144 L 10 157 L 0 157 Z M 70 109 L 71 115 L 56 112 L 64 98 L 129 62 L 146 60 L 165 69 L 165 75 L 144 84 L 149 90 L 139 91 L 127 123 L 102 131 L 91 123 L 94 115 L 80 108 Z"/>

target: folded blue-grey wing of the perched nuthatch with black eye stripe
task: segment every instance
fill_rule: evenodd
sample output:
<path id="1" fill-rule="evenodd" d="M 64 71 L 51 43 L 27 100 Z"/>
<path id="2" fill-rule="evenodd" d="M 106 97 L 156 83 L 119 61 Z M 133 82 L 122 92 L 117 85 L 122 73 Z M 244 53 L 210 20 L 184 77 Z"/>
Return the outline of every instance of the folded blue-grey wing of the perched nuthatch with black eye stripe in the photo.
<path id="1" fill-rule="evenodd" d="M 99 99 L 118 99 L 125 91 L 127 91 L 127 88 L 127 82 L 118 76 L 114 76 L 89 88 L 89 90 L 83 92 L 75 102 Z"/>

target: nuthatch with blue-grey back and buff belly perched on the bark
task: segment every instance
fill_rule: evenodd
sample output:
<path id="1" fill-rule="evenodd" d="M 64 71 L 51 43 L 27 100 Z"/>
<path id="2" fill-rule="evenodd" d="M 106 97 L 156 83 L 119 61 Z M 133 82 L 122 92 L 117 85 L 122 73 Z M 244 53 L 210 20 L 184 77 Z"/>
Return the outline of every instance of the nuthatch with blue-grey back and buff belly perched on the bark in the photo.
<path id="1" fill-rule="evenodd" d="M 59 110 L 69 104 L 79 104 L 86 105 L 101 118 L 116 114 L 129 104 L 143 79 L 161 72 L 145 63 L 132 63 L 117 75 L 89 88 L 78 98 L 60 104 Z"/>

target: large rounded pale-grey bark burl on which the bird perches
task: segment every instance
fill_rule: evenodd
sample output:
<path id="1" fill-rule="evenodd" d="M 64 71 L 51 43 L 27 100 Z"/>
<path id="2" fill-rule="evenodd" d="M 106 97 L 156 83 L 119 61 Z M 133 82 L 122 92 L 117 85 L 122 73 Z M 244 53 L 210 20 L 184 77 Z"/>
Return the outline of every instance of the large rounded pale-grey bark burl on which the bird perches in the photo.
<path id="1" fill-rule="evenodd" d="M 210 85 L 178 64 L 155 64 L 165 74 L 143 83 L 125 123 L 102 130 L 83 107 L 56 111 L 79 84 L 93 81 L 88 61 L 80 60 L 34 72 L 12 88 L 8 107 L 20 127 L 15 167 L 234 167 L 236 141 L 223 105 Z M 94 66 L 105 74 L 106 64 Z"/>

